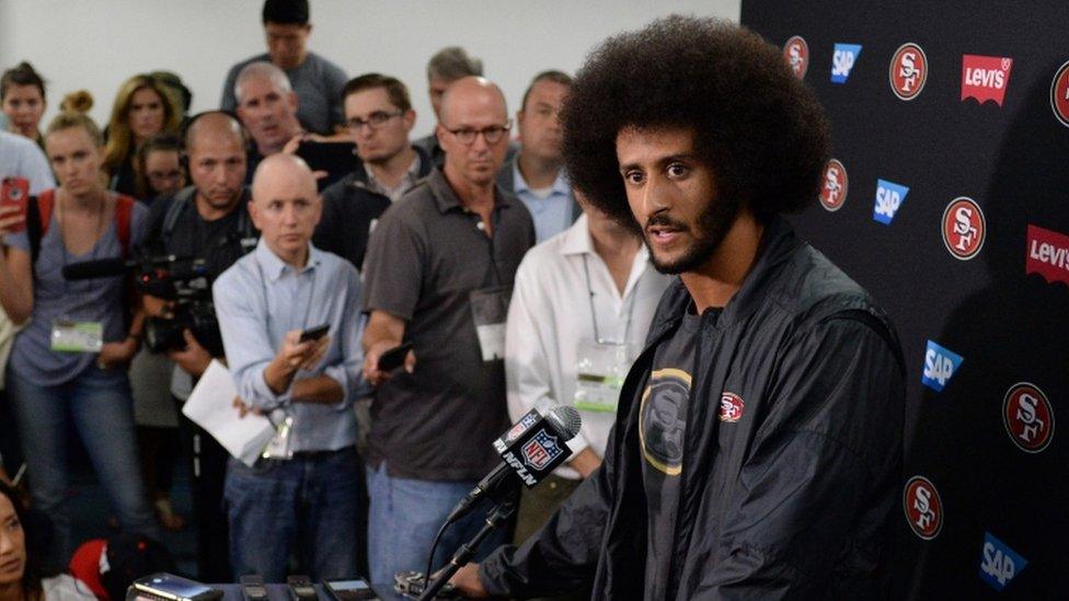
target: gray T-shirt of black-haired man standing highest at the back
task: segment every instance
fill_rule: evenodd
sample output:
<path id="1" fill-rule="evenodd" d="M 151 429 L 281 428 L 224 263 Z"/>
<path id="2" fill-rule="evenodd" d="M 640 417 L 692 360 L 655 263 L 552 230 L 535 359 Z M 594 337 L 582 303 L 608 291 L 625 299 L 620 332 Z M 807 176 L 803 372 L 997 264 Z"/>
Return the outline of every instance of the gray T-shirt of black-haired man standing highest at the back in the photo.
<path id="1" fill-rule="evenodd" d="M 237 111 L 238 101 L 233 95 L 238 73 L 253 62 L 271 62 L 271 56 L 262 54 L 243 60 L 230 68 L 227 82 L 222 84 L 222 100 L 219 108 Z M 297 92 L 297 119 L 304 129 L 317 134 L 333 134 L 334 126 L 345 120 L 342 109 L 342 89 L 347 78 L 341 67 L 330 60 L 308 53 L 304 62 L 286 71 L 289 83 Z M 249 170 L 250 174 L 252 170 Z"/>

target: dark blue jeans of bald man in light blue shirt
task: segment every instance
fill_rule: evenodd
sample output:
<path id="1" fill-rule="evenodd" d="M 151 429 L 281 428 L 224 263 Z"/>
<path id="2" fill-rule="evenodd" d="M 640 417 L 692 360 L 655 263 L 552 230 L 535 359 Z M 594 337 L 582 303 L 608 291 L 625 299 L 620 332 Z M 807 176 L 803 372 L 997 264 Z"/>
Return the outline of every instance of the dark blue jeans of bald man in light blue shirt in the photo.
<path id="1" fill-rule="evenodd" d="M 356 449 L 297 453 L 255 466 L 231 458 L 223 496 L 234 577 L 285 582 L 296 553 L 312 581 L 356 575 L 359 493 Z"/>

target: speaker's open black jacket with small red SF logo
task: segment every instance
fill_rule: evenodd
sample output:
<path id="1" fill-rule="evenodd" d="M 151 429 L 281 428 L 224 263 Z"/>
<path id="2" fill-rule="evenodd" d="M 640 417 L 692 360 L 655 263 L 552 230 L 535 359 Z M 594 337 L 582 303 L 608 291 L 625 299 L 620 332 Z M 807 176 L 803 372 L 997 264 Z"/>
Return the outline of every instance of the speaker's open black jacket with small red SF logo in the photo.
<path id="1" fill-rule="evenodd" d="M 646 500 L 639 408 L 654 351 L 690 303 L 662 298 L 647 347 L 620 396 L 605 462 L 518 550 L 481 567 L 496 594 L 593 583 L 594 599 L 635 599 L 644 581 Z M 706 314 L 687 411 L 675 599 L 880 597 L 901 479 L 905 370 L 894 328 L 869 294 L 786 221 L 716 319 Z M 722 420 L 724 393 L 743 400 Z"/>

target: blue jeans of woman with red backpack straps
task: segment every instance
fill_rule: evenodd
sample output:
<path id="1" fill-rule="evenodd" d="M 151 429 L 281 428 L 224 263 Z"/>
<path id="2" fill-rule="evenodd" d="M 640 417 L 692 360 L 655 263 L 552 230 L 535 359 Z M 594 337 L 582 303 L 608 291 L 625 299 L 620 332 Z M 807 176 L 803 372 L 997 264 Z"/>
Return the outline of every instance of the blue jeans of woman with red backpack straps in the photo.
<path id="1" fill-rule="evenodd" d="M 157 540 L 159 527 L 141 481 L 134 428 L 134 401 L 125 371 L 92 366 L 57 386 L 39 386 L 8 370 L 8 398 L 22 439 L 34 504 L 56 529 L 56 559 L 67 565 L 74 551 L 70 532 L 67 431 L 82 439 L 112 510 L 125 531 Z"/>

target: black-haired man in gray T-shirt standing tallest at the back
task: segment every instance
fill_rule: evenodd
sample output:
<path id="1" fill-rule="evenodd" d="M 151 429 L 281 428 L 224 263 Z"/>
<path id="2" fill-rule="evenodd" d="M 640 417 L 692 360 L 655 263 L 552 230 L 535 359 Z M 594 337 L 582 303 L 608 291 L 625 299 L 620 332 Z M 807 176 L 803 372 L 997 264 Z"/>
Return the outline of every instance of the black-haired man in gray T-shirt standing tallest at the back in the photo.
<path id="1" fill-rule="evenodd" d="M 307 48 L 312 33 L 307 0 L 266 0 L 263 11 L 267 53 L 243 60 L 230 68 L 222 85 L 219 107 L 233 112 L 238 107 L 234 82 L 238 73 L 253 62 L 271 61 L 289 77 L 300 103 L 297 117 L 304 129 L 330 135 L 344 120 L 342 88 L 348 79 L 341 67 Z"/>

